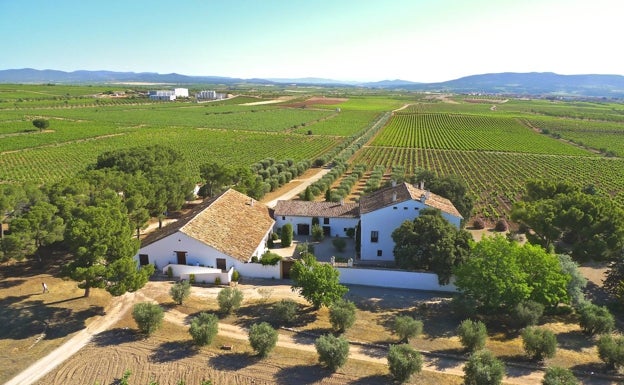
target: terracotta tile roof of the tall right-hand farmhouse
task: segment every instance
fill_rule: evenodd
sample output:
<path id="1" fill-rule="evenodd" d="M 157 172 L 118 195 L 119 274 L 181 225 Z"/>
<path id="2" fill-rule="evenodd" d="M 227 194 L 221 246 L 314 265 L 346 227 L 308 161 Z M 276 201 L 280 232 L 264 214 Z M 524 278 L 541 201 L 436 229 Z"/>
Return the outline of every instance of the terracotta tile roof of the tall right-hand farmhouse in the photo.
<path id="1" fill-rule="evenodd" d="M 395 197 L 394 194 L 396 194 L 395 200 L 393 200 Z M 360 214 L 366 214 L 371 211 L 408 200 L 417 200 L 422 202 L 423 195 L 428 196 L 425 199 L 425 205 L 436 208 L 458 218 L 463 218 L 450 200 L 429 191 L 421 190 L 409 183 L 399 183 L 394 187 L 386 187 L 371 194 L 362 196 L 362 198 L 360 198 Z"/>

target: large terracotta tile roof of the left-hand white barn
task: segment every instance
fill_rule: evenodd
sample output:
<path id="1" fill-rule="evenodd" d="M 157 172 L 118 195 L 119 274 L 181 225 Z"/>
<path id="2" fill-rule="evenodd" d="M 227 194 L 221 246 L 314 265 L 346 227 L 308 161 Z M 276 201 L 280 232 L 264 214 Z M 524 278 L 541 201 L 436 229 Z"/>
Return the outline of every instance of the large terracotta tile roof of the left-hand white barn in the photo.
<path id="1" fill-rule="evenodd" d="M 180 231 L 214 249 L 247 262 L 275 221 L 269 208 L 236 190 L 200 205 L 191 213 L 143 240 L 147 246 Z M 153 236 L 153 237 L 152 237 Z"/>

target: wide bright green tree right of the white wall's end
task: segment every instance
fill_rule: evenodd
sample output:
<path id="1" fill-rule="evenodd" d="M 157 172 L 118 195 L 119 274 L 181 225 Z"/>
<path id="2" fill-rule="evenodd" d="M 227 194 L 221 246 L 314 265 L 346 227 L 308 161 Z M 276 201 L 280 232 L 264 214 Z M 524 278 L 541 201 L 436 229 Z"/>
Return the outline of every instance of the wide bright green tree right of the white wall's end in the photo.
<path id="1" fill-rule="evenodd" d="M 500 235 L 475 243 L 455 277 L 457 288 L 486 311 L 510 310 L 526 300 L 544 306 L 568 300 L 570 276 L 555 254 Z"/>

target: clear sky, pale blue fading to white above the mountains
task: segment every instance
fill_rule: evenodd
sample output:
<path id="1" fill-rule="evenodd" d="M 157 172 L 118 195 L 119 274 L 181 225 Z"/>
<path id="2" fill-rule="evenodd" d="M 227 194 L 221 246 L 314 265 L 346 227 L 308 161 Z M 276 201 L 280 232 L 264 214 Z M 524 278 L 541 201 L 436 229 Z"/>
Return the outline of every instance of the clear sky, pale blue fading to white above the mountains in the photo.
<path id="1" fill-rule="evenodd" d="M 624 75 L 621 0 L 0 0 L 0 69 Z"/>

